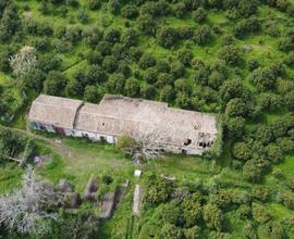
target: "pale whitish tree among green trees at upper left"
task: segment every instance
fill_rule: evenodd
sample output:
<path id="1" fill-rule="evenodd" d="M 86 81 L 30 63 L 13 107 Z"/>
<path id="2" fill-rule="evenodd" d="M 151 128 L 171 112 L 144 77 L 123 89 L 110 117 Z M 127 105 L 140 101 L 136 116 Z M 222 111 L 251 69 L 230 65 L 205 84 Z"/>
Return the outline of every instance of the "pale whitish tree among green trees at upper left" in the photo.
<path id="1" fill-rule="evenodd" d="M 23 47 L 19 53 L 9 59 L 13 73 L 20 77 L 29 73 L 37 64 L 36 50 L 32 47 Z"/>

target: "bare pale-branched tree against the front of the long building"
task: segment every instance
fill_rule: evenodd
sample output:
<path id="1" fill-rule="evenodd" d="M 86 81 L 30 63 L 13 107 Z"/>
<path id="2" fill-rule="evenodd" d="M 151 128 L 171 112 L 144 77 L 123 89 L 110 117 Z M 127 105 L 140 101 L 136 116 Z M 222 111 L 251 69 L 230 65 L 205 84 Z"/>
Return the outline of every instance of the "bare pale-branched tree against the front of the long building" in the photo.
<path id="1" fill-rule="evenodd" d="M 127 154 L 132 155 L 135 162 L 140 160 L 156 160 L 162 156 L 163 147 L 159 142 L 159 136 L 156 131 L 148 134 L 134 134 L 134 142 L 125 149 Z"/>

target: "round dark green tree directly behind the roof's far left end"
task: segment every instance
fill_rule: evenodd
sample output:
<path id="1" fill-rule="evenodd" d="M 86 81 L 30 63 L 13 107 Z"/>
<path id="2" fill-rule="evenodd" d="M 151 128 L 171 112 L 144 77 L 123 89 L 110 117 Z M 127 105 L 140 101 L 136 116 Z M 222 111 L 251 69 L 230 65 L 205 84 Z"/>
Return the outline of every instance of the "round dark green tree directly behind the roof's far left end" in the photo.
<path id="1" fill-rule="evenodd" d="M 62 96 L 66 80 L 61 72 L 49 72 L 47 79 L 44 81 L 44 90 L 47 95 Z"/>

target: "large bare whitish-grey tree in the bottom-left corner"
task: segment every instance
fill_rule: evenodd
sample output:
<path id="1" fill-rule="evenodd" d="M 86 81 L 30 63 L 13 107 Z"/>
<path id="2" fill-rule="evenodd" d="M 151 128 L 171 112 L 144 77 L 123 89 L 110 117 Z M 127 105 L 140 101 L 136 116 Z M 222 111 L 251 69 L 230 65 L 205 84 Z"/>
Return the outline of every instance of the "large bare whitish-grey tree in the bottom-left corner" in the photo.
<path id="1" fill-rule="evenodd" d="M 22 188 L 0 198 L 0 224 L 21 234 L 45 231 L 42 219 L 57 219 L 47 210 L 58 202 L 54 188 L 40 180 L 33 168 L 27 167 L 23 175 Z"/>

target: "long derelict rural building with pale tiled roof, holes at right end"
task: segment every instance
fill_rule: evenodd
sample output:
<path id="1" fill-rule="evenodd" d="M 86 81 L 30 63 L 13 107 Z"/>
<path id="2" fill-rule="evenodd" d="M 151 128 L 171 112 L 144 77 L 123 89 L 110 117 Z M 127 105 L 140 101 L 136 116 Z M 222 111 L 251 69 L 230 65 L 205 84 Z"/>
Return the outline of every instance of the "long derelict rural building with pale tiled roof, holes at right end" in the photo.
<path id="1" fill-rule="evenodd" d="M 32 104 L 33 128 L 114 143 L 119 137 L 154 134 L 167 151 L 201 154 L 217 137 L 211 114 L 167 103 L 106 95 L 99 104 L 40 95 Z"/>

